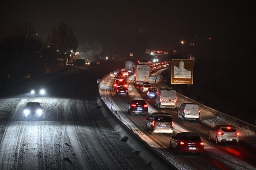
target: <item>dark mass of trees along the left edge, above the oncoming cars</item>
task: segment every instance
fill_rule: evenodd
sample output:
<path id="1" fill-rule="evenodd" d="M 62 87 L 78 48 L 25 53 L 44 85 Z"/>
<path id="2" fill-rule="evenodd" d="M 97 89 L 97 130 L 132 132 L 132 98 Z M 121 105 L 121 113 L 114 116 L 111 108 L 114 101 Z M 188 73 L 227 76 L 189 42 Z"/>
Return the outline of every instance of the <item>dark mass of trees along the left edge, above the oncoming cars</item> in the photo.
<path id="1" fill-rule="evenodd" d="M 29 23 L 17 25 L 10 37 L 0 41 L 0 86 L 24 77 L 38 76 L 57 64 L 57 58 L 69 59 L 78 41 L 72 28 L 61 24 L 52 28 L 44 42 Z"/>

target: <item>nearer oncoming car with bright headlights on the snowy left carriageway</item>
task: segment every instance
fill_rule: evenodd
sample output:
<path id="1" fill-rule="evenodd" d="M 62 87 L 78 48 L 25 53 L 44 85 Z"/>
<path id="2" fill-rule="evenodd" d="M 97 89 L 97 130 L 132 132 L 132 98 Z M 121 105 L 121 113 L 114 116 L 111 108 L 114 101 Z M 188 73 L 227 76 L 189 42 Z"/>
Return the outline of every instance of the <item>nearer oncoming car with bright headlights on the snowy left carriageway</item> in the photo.
<path id="1" fill-rule="evenodd" d="M 28 116 L 41 116 L 43 113 L 43 107 L 39 102 L 28 102 L 26 107 L 23 108 L 23 114 Z"/>

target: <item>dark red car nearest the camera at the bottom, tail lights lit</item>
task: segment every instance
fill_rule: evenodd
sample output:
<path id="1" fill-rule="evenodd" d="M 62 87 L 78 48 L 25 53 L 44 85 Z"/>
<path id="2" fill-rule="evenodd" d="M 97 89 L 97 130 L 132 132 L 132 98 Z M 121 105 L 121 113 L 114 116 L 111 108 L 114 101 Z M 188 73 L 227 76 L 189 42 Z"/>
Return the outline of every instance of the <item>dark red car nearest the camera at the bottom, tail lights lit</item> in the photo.
<path id="1" fill-rule="evenodd" d="M 170 140 L 170 149 L 180 153 L 199 153 L 204 151 L 204 142 L 197 133 L 180 132 L 172 136 Z"/>

